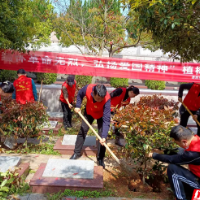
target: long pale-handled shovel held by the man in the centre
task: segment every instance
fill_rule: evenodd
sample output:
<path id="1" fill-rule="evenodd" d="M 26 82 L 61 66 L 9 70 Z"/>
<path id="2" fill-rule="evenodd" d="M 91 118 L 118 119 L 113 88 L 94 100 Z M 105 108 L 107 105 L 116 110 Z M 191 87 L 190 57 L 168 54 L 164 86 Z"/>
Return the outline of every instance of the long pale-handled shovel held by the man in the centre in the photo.
<path id="1" fill-rule="evenodd" d="M 93 133 L 96 135 L 96 137 L 101 140 L 102 138 L 99 136 L 99 134 L 94 130 L 94 128 L 90 125 L 90 123 L 85 119 L 85 117 L 82 115 L 81 112 L 78 112 L 78 114 L 80 115 L 80 117 L 84 120 L 84 122 L 89 126 L 89 128 L 93 131 Z M 109 151 L 109 153 L 111 154 L 111 156 L 114 158 L 114 160 L 121 166 L 121 168 L 123 170 L 125 170 L 125 172 L 127 172 L 128 175 L 130 175 L 130 173 L 133 171 L 132 169 L 129 169 L 128 166 L 123 163 L 122 161 L 120 161 L 116 155 L 112 152 L 112 150 L 107 146 L 107 144 L 104 144 L 104 146 L 106 147 L 106 149 Z"/>

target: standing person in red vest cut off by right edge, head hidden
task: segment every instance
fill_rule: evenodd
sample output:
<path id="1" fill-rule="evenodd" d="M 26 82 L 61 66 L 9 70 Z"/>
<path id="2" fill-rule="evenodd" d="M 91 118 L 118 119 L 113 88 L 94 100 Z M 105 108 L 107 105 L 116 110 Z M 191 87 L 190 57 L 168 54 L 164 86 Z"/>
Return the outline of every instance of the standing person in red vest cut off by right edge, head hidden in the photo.
<path id="1" fill-rule="evenodd" d="M 178 100 L 182 103 L 182 96 L 183 91 L 189 90 L 188 94 L 186 95 L 183 103 L 188 107 L 188 109 L 192 112 L 194 115 L 194 118 L 197 119 L 200 122 L 200 84 L 199 83 L 188 83 L 188 84 L 182 84 L 179 87 L 179 93 L 178 93 Z M 188 123 L 188 118 L 190 114 L 185 109 L 183 105 L 180 107 L 180 125 L 186 127 Z M 200 127 L 197 124 L 197 134 L 200 136 Z"/>

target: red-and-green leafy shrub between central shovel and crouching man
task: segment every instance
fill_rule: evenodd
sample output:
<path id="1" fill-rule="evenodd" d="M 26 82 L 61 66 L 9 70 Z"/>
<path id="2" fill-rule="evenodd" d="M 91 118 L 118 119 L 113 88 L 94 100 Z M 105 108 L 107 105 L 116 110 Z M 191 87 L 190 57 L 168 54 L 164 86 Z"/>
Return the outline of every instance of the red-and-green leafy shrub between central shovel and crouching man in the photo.
<path id="1" fill-rule="evenodd" d="M 129 104 L 114 116 L 114 120 L 119 122 L 118 127 L 128 126 L 125 132 L 126 156 L 140 162 L 136 170 L 142 172 L 143 182 L 149 175 L 147 166 L 152 159 L 147 158 L 146 154 L 152 149 L 171 150 L 175 147 L 169 134 L 175 125 L 174 109 L 177 109 L 177 103 L 171 107 L 167 106 L 171 102 L 165 103 L 166 106 L 163 107 L 162 97 L 146 96 L 137 105 Z"/>

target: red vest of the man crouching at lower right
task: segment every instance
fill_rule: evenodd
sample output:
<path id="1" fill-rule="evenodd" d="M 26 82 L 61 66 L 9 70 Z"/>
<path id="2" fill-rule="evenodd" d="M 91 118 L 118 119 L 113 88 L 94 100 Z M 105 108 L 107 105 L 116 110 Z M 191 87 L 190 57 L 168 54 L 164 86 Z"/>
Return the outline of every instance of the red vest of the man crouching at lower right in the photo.
<path id="1" fill-rule="evenodd" d="M 186 151 L 195 151 L 200 152 L 200 137 L 195 135 L 193 140 L 190 143 L 190 146 Z M 190 171 L 196 176 L 200 177 L 200 165 L 191 165 L 188 164 Z"/>

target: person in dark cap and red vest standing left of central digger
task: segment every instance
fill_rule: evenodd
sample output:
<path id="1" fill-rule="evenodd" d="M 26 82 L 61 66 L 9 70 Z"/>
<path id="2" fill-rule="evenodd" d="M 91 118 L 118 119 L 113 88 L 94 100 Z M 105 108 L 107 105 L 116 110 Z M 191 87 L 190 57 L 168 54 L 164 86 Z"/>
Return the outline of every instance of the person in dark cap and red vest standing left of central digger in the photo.
<path id="1" fill-rule="evenodd" d="M 72 127 L 72 103 L 76 92 L 76 81 L 74 75 L 69 75 L 66 82 L 63 83 L 60 95 L 61 106 L 63 110 L 63 125 L 65 130 Z"/>

